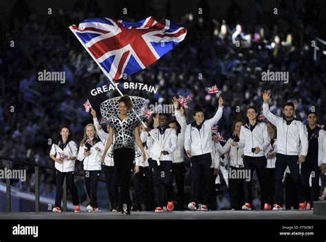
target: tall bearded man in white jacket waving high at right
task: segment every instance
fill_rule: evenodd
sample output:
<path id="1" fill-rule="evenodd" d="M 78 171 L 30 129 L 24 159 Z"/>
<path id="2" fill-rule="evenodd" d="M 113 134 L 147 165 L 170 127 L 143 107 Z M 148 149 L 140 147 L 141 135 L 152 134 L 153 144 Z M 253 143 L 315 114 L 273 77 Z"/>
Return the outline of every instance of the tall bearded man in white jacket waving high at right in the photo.
<path id="1" fill-rule="evenodd" d="M 277 117 L 270 112 L 268 100 L 270 93 L 263 92 L 263 115 L 276 126 L 277 130 L 277 154 L 275 163 L 275 197 L 273 210 L 281 210 L 283 204 L 283 174 L 288 166 L 292 179 L 296 182 L 298 192 L 299 209 L 305 209 L 305 198 L 302 191 L 299 163 L 305 161 L 308 151 L 307 131 L 301 121 L 294 119 L 293 103 L 285 103 L 283 114 L 285 117 Z"/>

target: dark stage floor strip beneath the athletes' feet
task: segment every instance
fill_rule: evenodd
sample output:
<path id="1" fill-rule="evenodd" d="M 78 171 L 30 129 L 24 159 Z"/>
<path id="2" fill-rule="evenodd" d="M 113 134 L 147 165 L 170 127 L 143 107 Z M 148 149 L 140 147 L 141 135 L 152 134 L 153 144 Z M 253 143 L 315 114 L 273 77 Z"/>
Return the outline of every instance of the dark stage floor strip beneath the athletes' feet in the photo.
<path id="1" fill-rule="evenodd" d="M 174 211 L 174 212 L 0 212 L 0 219 L 326 219 L 326 216 L 313 215 L 312 211 Z"/>

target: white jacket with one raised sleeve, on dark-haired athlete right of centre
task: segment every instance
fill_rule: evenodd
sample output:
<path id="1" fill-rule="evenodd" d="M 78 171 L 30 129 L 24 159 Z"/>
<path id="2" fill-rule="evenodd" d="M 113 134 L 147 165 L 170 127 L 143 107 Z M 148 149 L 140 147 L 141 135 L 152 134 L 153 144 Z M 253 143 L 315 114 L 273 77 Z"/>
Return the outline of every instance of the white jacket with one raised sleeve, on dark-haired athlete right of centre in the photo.
<path id="1" fill-rule="evenodd" d="M 223 107 L 219 107 L 212 119 L 204 120 L 200 130 L 196 128 L 195 121 L 188 124 L 184 134 L 184 150 L 190 150 L 192 156 L 212 152 L 212 127 L 221 119 L 222 114 Z"/>

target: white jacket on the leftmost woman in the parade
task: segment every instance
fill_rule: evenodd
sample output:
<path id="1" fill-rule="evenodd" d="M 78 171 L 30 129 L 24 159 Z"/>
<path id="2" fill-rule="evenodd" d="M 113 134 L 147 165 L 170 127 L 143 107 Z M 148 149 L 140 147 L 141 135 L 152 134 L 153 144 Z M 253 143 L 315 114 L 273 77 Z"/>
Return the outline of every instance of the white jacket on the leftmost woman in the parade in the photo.
<path id="1" fill-rule="evenodd" d="M 65 148 L 62 150 L 59 145 L 56 143 L 52 144 L 50 154 L 56 156 L 56 159 L 60 158 L 60 154 L 66 155 L 67 157 L 77 157 L 78 148 L 75 141 L 69 141 Z M 63 163 L 59 164 L 58 162 L 54 162 L 54 167 L 59 172 L 73 172 L 75 170 L 75 161 L 76 160 L 67 160 L 63 159 Z"/>

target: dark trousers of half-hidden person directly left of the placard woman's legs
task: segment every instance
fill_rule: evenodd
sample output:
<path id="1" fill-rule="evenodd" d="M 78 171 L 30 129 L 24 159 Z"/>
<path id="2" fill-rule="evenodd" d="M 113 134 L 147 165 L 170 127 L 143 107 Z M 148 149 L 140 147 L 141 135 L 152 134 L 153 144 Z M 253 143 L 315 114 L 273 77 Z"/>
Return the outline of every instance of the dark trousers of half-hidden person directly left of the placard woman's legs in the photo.
<path id="1" fill-rule="evenodd" d="M 105 177 L 105 183 L 107 185 L 107 193 L 109 194 L 109 200 L 111 203 L 111 209 L 118 207 L 118 186 L 115 179 L 113 179 L 114 167 L 109 165 L 102 165 L 102 171 Z"/>

